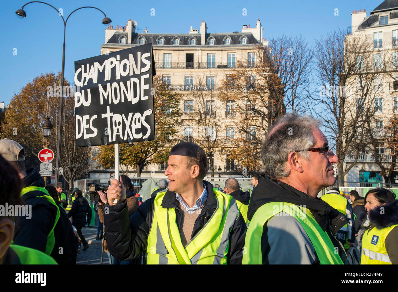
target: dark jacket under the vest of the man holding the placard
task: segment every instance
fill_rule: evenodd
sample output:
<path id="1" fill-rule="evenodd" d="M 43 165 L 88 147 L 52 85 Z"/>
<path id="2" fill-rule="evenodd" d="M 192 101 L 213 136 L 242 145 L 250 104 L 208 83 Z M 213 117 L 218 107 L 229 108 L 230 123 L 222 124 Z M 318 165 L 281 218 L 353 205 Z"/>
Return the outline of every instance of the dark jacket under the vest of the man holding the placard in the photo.
<path id="1" fill-rule="evenodd" d="M 213 186 L 203 181 L 207 189 L 207 199 L 202 211 L 193 226 L 193 238 L 211 218 L 217 209 L 217 198 L 213 192 Z M 134 259 L 147 249 L 147 239 L 152 225 L 154 212 L 154 200 L 152 197 L 142 203 L 137 212 L 129 219 L 127 213 L 126 201 L 121 204 L 105 207 L 109 208 L 109 214 L 105 214 L 105 237 L 108 243 L 108 250 L 119 260 Z M 177 224 L 180 226 L 184 213 L 180 209 L 179 201 L 176 199 L 176 193 L 168 191 L 162 201 L 163 208 L 175 208 Z M 239 215 L 236 219 L 229 237 L 229 250 L 227 254 L 228 264 L 242 264 L 242 249 L 244 247 L 246 235 L 246 223 Z"/>

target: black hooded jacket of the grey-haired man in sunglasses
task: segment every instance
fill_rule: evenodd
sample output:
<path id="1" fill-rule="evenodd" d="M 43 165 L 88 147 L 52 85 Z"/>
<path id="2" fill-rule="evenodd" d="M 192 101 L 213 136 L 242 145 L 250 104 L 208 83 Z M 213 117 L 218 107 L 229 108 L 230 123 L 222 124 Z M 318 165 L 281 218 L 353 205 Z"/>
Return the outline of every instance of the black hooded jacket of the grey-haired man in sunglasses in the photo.
<path id="1" fill-rule="evenodd" d="M 329 235 L 330 240 L 332 241 L 335 247 L 339 249 L 339 255 L 343 260 L 343 263 L 347 263 L 347 256 L 345 254 L 344 248 L 341 243 L 332 236 L 332 234 L 336 234 L 336 232 L 343 227 L 347 222 L 347 218 L 340 213 L 338 210 L 330 207 L 330 205 L 320 198 L 310 198 L 306 193 L 296 190 L 292 186 L 285 184 L 280 181 L 271 180 L 265 176 L 260 176 L 258 185 L 252 192 L 252 196 L 250 199 L 250 204 L 248 207 L 248 219 L 252 220 L 254 213 L 266 203 L 271 202 L 285 202 L 285 203 L 293 203 L 295 205 L 305 205 L 306 209 L 308 209 L 311 214 L 314 216 L 315 220 L 318 222 L 322 230 L 326 231 Z M 285 218 L 285 219 L 284 219 Z M 288 217 L 277 217 L 277 219 L 287 220 Z M 284 228 L 284 227 L 282 227 Z M 290 226 L 286 226 L 286 230 L 280 230 L 280 233 L 277 236 L 282 236 L 284 238 L 291 237 L 293 240 L 301 240 L 300 238 L 294 238 L 296 234 L 292 234 L 291 230 L 289 230 Z M 276 251 L 275 254 L 287 254 L 286 247 L 284 246 L 270 246 L 269 244 L 269 234 L 268 234 L 267 224 L 263 226 L 263 234 L 261 236 L 261 253 L 262 253 L 262 262 L 263 264 L 272 264 L 274 263 L 272 259 L 269 259 L 268 255 L 271 249 Z M 300 232 L 297 232 L 298 236 L 302 236 Z M 272 235 L 274 236 L 274 235 Z M 308 235 L 306 235 L 308 236 Z M 304 241 L 308 239 L 304 239 Z M 289 251 L 292 252 L 292 251 Z M 293 251 L 294 252 L 294 251 Z M 298 261 L 300 258 L 306 257 L 307 254 L 297 255 Z M 292 263 L 287 259 L 288 262 L 277 262 L 277 263 Z M 319 264 L 320 261 L 318 256 L 315 255 L 315 259 L 311 262 L 312 264 Z"/>

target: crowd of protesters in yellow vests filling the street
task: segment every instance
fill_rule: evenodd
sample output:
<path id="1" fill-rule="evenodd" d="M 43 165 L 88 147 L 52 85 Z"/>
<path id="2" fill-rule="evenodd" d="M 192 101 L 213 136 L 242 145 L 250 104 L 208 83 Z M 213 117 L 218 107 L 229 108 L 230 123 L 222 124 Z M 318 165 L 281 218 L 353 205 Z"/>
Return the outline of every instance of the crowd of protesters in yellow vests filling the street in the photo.
<path id="1" fill-rule="evenodd" d="M 375 188 L 345 198 L 334 176 L 338 157 L 318 120 L 282 116 L 261 160 L 265 173 L 252 175 L 252 193 L 236 178 L 223 189 L 204 180 L 207 156 L 191 142 L 172 147 L 168 180 L 144 202 L 130 178 L 112 179 L 96 206 L 97 239 L 109 263 L 398 264 L 396 195 Z M 45 186 L 35 168 L 25 169 L 23 147 L 9 139 L 0 140 L 0 181 L 0 205 L 31 210 L 31 218 L 0 217 L 0 263 L 76 263 L 79 241 L 88 248 L 82 227 L 92 217 L 82 191 L 65 195 L 62 185 Z"/>

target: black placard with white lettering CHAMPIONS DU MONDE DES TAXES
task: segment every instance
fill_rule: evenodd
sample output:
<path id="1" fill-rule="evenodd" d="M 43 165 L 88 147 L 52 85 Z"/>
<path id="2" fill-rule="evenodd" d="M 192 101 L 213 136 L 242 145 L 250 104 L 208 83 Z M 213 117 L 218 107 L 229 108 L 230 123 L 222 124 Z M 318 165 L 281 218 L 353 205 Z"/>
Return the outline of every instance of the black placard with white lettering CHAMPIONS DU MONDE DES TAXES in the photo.
<path id="1" fill-rule="evenodd" d="M 75 62 L 76 146 L 155 139 L 152 44 Z"/>

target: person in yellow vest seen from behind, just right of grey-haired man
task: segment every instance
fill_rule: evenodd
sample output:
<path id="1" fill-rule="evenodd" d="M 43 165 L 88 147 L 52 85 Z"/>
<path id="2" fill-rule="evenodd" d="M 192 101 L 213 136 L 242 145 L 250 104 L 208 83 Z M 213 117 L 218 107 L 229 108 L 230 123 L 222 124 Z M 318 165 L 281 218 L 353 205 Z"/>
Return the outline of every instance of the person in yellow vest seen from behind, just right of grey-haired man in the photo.
<path id="1" fill-rule="evenodd" d="M 351 204 L 341 194 L 342 192 L 339 190 L 337 182 L 333 186 L 326 188 L 326 190 L 326 194 L 324 194 L 321 199 L 344 214 L 348 219 L 348 224 L 345 224 L 343 228 L 337 232 L 335 237 L 344 245 L 345 249 L 354 247 L 356 230 L 354 212 L 352 211 Z"/>

